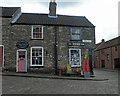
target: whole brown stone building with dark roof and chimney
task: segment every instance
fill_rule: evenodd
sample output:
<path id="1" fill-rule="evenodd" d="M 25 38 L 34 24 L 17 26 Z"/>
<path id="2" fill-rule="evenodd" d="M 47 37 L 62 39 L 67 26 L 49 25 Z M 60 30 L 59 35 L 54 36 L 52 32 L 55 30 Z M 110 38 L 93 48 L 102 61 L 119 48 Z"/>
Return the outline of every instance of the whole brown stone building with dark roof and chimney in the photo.
<path id="1" fill-rule="evenodd" d="M 3 68 L 16 72 L 57 74 L 82 71 L 84 53 L 92 68 L 95 26 L 85 16 L 22 13 L 20 7 L 2 7 Z"/>

